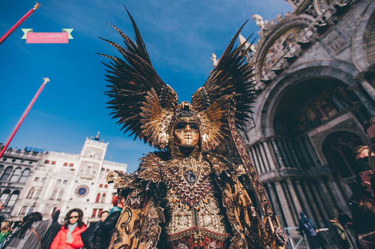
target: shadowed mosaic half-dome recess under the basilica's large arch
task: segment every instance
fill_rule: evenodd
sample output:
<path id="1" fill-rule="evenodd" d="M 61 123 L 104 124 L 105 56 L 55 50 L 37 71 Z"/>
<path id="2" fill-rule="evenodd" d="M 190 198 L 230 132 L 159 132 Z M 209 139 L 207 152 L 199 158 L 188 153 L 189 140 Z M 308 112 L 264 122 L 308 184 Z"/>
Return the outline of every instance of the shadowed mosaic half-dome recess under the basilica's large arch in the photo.
<path id="1" fill-rule="evenodd" d="M 359 103 L 345 88 L 343 82 L 330 78 L 309 79 L 291 87 L 276 109 L 275 134 L 294 138 Z"/>

